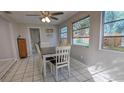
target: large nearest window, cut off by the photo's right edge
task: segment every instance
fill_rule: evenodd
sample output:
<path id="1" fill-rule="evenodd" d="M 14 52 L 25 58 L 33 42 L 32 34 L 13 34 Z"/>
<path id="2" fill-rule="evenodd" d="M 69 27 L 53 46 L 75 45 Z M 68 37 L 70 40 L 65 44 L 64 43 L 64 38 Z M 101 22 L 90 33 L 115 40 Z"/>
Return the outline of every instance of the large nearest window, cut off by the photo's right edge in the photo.
<path id="1" fill-rule="evenodd" d="M 124 52 L 124 12 L 103 12 L 102 47 Z"/>

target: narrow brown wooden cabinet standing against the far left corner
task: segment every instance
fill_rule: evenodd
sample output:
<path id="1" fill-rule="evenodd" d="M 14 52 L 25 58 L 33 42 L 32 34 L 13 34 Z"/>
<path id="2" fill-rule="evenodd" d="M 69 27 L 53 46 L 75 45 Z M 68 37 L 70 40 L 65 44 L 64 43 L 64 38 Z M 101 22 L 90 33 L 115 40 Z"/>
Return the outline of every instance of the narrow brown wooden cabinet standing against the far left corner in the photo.
<path id="1" fill-rule="evenodd" d="M 27 57 L 26 39 L 18 38 L 17 42 L 18 42 L 19 57 L 26 58 Z"/>

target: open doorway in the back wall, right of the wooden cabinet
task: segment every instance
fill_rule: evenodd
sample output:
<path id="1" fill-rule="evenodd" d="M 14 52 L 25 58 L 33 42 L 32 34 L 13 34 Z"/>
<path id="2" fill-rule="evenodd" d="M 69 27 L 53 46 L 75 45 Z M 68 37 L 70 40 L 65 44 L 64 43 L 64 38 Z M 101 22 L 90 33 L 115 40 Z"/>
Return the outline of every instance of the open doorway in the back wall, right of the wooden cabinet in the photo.
<path id="1" fill-rule="evenodd" d="M 35 44 L 40 46 L 40 28 L 29 28 L 32 54 L 36 54 Z"/>

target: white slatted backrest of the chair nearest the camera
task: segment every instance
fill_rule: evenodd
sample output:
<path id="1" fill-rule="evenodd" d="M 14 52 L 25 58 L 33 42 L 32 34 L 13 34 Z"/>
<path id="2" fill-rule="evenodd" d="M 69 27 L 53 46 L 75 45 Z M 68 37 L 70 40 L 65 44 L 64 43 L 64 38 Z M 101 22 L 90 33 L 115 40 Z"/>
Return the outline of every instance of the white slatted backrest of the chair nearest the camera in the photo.
<path id="1" fill-rule="evenodd" d="M 56 47 L 56 64 L 64 64 L 70 61 L 71 46 Z"/>

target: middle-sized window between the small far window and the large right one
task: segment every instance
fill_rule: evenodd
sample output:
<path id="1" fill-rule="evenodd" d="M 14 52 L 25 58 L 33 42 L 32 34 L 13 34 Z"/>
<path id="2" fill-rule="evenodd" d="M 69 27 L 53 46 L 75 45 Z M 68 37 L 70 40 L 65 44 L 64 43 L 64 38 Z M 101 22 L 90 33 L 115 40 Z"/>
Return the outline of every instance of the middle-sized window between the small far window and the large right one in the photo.
<path id="1" fill-rule="evenodd" d="M 89 27 L 89 16 L 73 23 L 73 45 L 89 47 Z"/>

